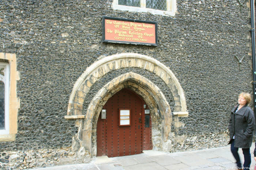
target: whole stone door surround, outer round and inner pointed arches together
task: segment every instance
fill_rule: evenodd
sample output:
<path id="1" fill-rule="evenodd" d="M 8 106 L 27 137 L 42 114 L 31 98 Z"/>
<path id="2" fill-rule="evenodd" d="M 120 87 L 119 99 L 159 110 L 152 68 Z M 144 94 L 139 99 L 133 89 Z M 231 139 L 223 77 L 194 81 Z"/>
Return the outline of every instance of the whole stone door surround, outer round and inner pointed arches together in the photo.
<path id="1" fill-rule="evenodd" d="M 106 84 L 99 86 L 102 88 L 97 90 L 87 108 L 83 108 L 87 93 L 94 88 L 95 82 L 114 70 L 128 67 L 144 69 L 159 76 L 173 96 L 173 112 L 159 87 L 143 75 L 132 71 L 104 80 Z M 74 84 L 69 97 L 67 115 L 64 116 L 65 119 L 75 119 L 78 127 L 78 133 L 74 135 L 72 141 L 73 151 L 86 150 L 91 157 L 97 155 L 97 121 L 102 107 L 113 94 L 125 87 L 136 91 L 148 103 L 152 118 L 154 150 L 170 151 L 172 116 L 176 117 L 176 122 L 178 117 L 188 116 L 183 89 L 170 68 L 154 58 L 134 53 L 100 58 L 86 68 Z"/>

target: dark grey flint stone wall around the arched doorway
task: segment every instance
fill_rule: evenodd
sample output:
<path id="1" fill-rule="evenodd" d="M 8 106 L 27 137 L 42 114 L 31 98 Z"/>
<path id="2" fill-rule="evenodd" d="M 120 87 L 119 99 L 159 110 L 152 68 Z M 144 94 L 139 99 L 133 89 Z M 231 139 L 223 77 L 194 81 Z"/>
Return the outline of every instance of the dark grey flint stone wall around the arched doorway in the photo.
<path id="1" fill-rule="evenodd" d="M 43 155 L 41 150 L 71 147 L 78 128 L 64 115 L 74 83 L 99 58 L 123 52 L 159 60 L 184 90 L 189 117 L 179 118 L 178 133 L 170 133 L 170 151 L 226 145 L 230 109 L 240 92 L 252 89 L 248 4 L 240 9 L 237 0 L 178 0 L 174 17 L 114 11 L 111 4 L 112 0 L 2 1 L 0 52 L 16 54 L 20 72 L 18 133 L 14 142 L 0 142 L 2 168 L 18 166 L 11 164 L 13 154 L 19 155 L 22 167 L 23 153 L 32 157 L 33 152 Z M 156 21 L 158 46 L 102 43 L 103 15 Z M 234 55 L 245 56 L 241 70 Z M 172 94 L 158 79 L 153 76 L 151 81 L 169 95 L 172 107 Z M 87 94 L 89 99 L 97 88 Z M 44 166 L 51 165 L 45 161 Z"/>

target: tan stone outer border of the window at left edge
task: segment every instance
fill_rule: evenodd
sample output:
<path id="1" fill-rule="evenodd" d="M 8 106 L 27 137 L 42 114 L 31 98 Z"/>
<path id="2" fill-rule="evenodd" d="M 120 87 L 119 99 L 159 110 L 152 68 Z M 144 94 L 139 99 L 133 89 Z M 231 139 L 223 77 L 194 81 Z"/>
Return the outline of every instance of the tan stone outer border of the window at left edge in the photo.
<path id="1" fill-rule="evenodd" d="M 17 98 L 17 80 L 20 79 L 17 71 L 16 54 L 0 52 L 0 61 L 8 62 L 10 67 L 9 81 L 9 133 L 0 134 L 0 141 L 15 141 L 18 132 L 18 109 L 20 108 L 20 99 Z"/>

